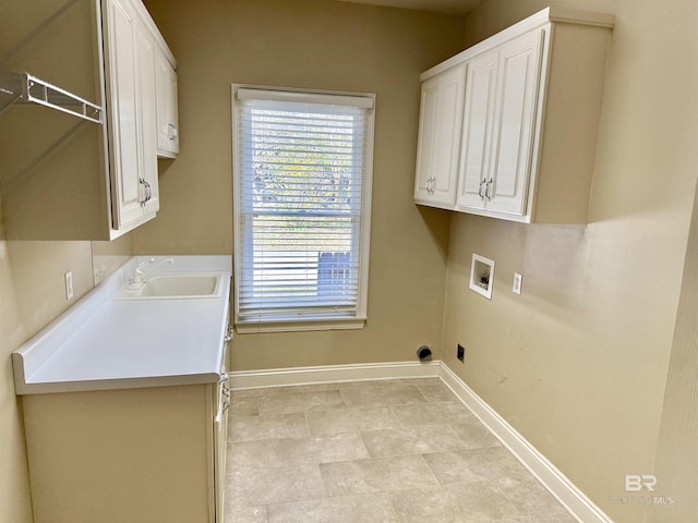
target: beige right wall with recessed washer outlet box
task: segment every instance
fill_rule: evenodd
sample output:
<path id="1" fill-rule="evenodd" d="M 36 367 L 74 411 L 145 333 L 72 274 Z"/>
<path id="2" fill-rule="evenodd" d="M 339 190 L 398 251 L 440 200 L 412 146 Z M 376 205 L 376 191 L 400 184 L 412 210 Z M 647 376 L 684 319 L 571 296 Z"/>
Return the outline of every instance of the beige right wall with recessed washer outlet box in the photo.
<path id="1" fill-rule="evenodd" d="M 654 470 L 698 162 L 698 3 L 488 0 L 468 45 L 549 3 L 617 15 L 590 222 L 454 215 L 444 360 L 614 521 L 637 523 L 641 506 L 609 498 Z M 468 290 L 472 253 L 496 262 L 492 301 Z"/>

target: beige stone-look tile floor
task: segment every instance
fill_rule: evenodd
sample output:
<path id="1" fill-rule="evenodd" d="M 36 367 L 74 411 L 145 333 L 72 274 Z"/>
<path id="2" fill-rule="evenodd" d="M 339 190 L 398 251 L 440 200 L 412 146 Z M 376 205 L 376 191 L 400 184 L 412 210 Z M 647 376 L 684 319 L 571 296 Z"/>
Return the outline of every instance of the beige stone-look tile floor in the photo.
<path id="1" fill-rule="evenodd" d="M 226 523 L 574 523 L 438 378 L 233 391 Z"/>

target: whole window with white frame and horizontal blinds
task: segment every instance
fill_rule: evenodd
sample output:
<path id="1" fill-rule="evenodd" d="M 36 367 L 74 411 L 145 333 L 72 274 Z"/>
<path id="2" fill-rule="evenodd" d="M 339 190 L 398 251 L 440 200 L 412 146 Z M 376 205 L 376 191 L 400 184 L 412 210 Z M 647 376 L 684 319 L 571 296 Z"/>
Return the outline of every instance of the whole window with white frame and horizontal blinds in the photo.
<path id="1" fill-rule="evenodd" d="M 239 331 L 364 325 L 373 106 L 233 85 Z"/>

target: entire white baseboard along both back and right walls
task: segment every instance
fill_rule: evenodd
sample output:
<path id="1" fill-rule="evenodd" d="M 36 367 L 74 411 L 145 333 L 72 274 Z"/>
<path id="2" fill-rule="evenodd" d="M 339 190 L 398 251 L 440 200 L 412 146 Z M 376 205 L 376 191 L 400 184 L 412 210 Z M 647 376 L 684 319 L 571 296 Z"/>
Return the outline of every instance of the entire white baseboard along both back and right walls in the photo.
<path id="1" fill-rule="evenodd" d="M 233 390 L 366 379 L 438 377 L 580 523 L 613 523 L 555 465 L 441 361 L 243 370 L 228 373 L 228 376 Z"/>

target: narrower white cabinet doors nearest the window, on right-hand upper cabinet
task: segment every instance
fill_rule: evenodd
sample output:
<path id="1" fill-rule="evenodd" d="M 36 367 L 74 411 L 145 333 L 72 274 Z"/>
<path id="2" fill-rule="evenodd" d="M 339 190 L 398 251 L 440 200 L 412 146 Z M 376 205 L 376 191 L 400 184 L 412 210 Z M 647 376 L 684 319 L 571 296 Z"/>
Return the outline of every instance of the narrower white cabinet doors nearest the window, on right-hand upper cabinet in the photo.
<path id="1" fill-rule="evenodd" d="M 455 203 L 465 96 L 465 66 L 422 85 L 414 199 L 450 207 Z"/>

